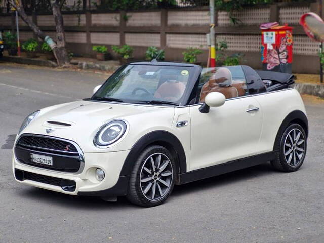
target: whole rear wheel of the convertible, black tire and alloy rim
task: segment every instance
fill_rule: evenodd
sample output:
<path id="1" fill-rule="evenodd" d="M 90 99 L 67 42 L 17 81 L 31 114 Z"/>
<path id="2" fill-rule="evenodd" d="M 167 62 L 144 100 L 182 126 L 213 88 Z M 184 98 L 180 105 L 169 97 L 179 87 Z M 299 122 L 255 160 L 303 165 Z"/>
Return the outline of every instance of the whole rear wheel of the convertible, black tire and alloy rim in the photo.
<path id="1" fill-rule="evenodd" d="M 297 171 L 304 162 L 306 150 L 305 130 L 299 124 L 292 123 L 282 133 L 276 158 L 271 164 L 278 171 Z"/>

